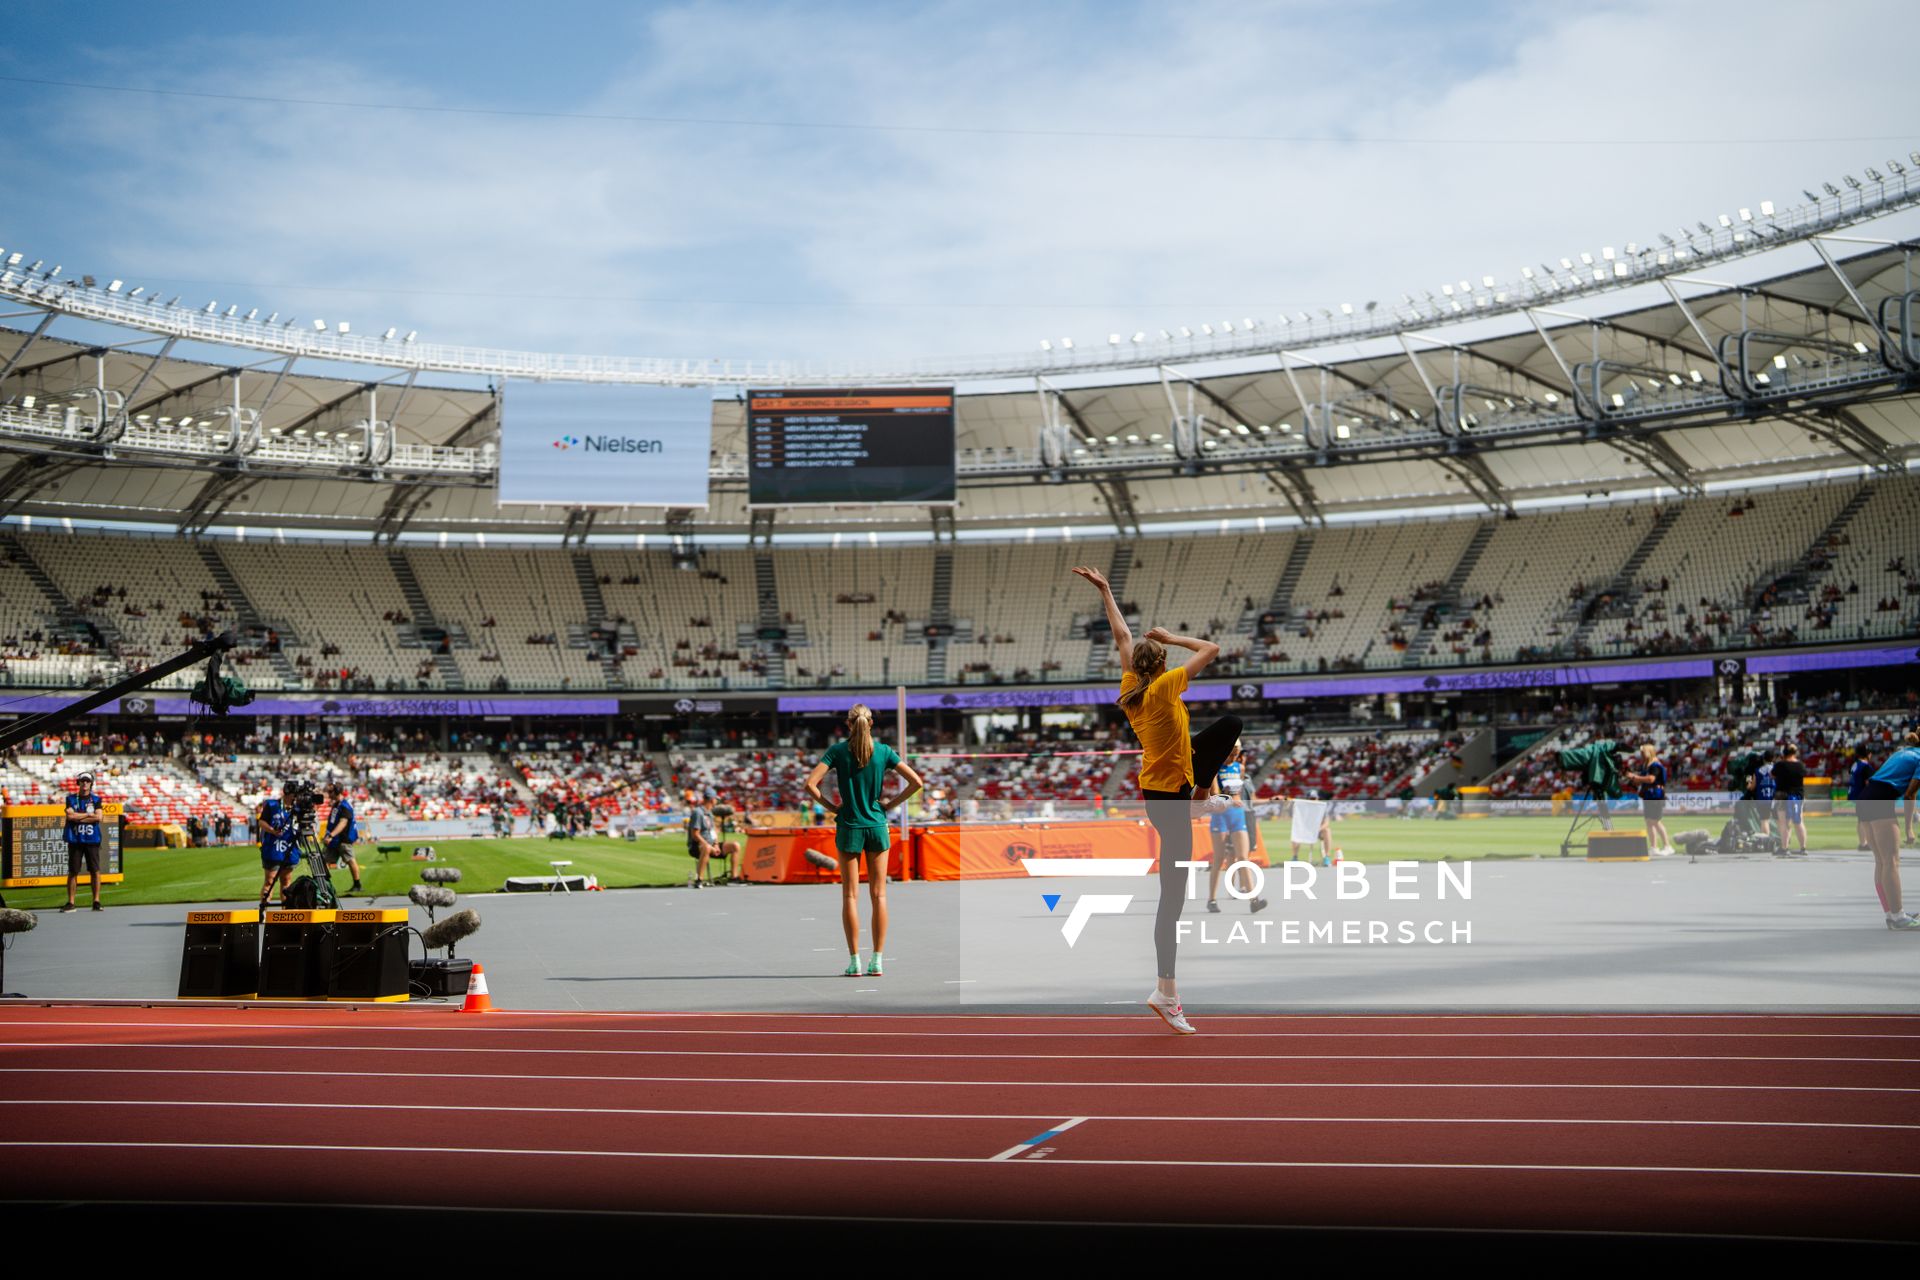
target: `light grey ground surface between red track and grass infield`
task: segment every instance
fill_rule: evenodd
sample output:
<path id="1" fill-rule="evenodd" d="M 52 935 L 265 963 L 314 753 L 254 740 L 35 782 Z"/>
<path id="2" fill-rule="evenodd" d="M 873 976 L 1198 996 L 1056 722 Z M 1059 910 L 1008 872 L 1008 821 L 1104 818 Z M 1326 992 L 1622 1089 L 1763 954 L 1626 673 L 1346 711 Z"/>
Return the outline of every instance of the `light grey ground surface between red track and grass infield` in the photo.
<path id="1" fill-rule="evenodd" d="M 1453 864 L 1461 867 L 1465 864 Z M 1864 854 L 1807 860 L 1661 858 L 1475 862 L 1473 898 L 1373 890 L 1336 900 L 1321 867 L 1315 900 L 1281 896 L 1269 871 L 1260 915 L 1206 889 L 1183 913 L 1181 996 L 1206 1011 L 1455 1009 L 1899 1009 L 1920 1011 L 1920 935 L 1889 933 Z M 1920 900 L 1920 864 L 1905 864 Z M 895 883 L 887 975 L 843 979 L 833 885 L 637 889 L 597 894 L 461 894 L 484 917 L 459 954 L 486 965 L 503 1009 L 670 1011 L 1100 1011 L 1154 986 L 1152 877 Z M 1058 894 L 1048 910 L 1043 894 Z M 1091 913 L 1073 946 L 1062 927 L 1083 894 L 1127 896 Z M 109 898 L 111 900 L 111 898 Z M 346 906 L 363 906 L 353 898 Z M 382 898 L 380 906 L 399 906 Z M 238 904 L 252 906 L 252 904 Z M 862 925 L 868 902 L 860 896 Z M 6 986 L 29 998 L 169 1000 L 184 906 L 40 912 L 6 956 Z M 415 908 L 415 927 L 426 913 Z M 1271 921 L 1258 936 L 1256 921 Z M 1292 921 L 1296 942 L 1283 940 Z M 1423 938 L 1367 942 L 1369 929 Z M 1471 942 L 1427 942 L 1457 925 Z M 1235 938 L 1233 927 L 1244 933 Z M 1313 929 L 1332 931 L 1332 942 Z M 1202 929 L 1206 938 L 1202 940 Z M 1340 942 L 1352 929 L 1350 942 Z M 862 933 L 862 954 L 872 948 Z M 419 942 L 413 946 L 419 956 Z"/>

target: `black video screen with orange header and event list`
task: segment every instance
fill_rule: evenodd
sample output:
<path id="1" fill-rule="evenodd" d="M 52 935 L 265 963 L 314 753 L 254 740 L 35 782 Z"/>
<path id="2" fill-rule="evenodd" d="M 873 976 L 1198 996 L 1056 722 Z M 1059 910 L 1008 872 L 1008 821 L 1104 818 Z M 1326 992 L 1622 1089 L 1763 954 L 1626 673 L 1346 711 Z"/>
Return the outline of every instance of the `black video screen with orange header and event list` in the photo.
<path id="1" fill-rule="evenodd" d="M 954 501 L 952 388 L 747 391 L 747 501 Z"/>

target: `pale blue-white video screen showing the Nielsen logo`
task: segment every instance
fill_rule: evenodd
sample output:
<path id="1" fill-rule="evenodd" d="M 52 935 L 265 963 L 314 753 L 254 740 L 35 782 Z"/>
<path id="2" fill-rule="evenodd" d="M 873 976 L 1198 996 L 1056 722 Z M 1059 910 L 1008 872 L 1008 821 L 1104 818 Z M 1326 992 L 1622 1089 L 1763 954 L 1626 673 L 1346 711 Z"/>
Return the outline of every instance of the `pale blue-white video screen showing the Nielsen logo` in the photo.
<path id="1" fill-rule="evenodd" d="M 708 388 L 509 382 L 499 501 L 547 507 L 707 507 Z"/>

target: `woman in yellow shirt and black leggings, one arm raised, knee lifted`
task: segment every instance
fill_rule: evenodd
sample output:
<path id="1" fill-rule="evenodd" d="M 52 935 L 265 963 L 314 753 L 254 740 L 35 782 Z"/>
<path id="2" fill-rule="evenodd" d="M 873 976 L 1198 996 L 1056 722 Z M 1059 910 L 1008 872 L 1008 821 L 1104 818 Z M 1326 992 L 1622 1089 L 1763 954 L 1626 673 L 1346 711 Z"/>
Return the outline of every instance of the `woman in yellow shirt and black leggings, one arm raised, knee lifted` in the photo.
<path id="1" fill-rule="evenodd" d="M 1114 647 L 1119 649 L 1123 668 L 1119 708 L 1140 739 L 1140 798 L 1146 800 L 1146 819 L 1160 835 L 1160 908 L 1154 913 L 1154 960 L 1160 983 L 1146 998 L 1146 1006 L 1167 1027 L 1190 1036 L 1194 1027 L 1187 1021 L 1173 984 L 1181 902 L 1187 898 L 1187 867 L 1179 864 L 1192 862 L 1192 819 L 1231 804 L 1225 796 L 1213 794 L 1213 775 L 1240 741 L 1240 718 L 1221 716 L 1188 737 L 1187 702 L 1181 695 L 1187 693 L 1188 681 L 1219 656 L 1219 645 L 1192 635 L 1173 635 L 1165 628 L 1154 628 L 1135 641 L 1106 576 L 1085 566 L 1073 574 L 1091 581 L 1106 604 L 1106 622 L 1114 629 Z M 1187 649 L 1192 656 L 1169 670 L 1169 645 Z"/>

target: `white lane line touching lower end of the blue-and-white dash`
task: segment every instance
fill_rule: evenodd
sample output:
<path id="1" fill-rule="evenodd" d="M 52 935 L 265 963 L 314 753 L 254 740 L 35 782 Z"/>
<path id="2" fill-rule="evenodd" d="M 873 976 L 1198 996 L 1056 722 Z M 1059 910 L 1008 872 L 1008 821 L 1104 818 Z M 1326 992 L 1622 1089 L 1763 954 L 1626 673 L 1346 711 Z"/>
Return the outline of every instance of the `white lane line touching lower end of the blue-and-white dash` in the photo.
<path id="1" fill-rule="evenodd" d="M 561 1159 L 739 1159 L 793 1161 L 833 1165 L 991 1165 L 989 1155 L 772 1155 L 764 1151 L 593 1151 L 566 1148 L 426 1148 L 303 1142 L 35 1142 L 0 1140 L 0 1148 L 31 1150 L 109 1150 L 109 1151 L 336 1151 L 349 1155 L 538 1155 Z M 1027 1163 L 1027 1161 L 1023 1161 Z M 1764 1178 L 1901 1178 L 1920 1180 L 1920 1173 L 1887 1173 L 1874 1169 L 1716 1169 L 1711 1165 L 1476 1165 L 1440 1161 L 1217 1161 L 1217 1159 L 1060 1159 L 1031 1161 L 1033 1165 L 1083 1165 L 1117 1169 L 1404 1169 L 1440 1173 L 1690 1173 L 1690 1174 L 1751 1174 Z"/>

